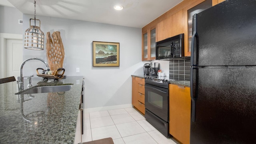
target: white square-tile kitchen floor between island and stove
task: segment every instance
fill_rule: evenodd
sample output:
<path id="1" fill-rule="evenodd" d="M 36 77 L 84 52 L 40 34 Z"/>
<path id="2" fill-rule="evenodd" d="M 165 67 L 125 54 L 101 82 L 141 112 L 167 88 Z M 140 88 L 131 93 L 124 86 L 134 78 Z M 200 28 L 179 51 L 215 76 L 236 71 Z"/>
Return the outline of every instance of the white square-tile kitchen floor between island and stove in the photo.
<path id="1" fill-rule="evenodd" d="M 176 144 L 134 108 L 85 113 L 82 142 L 108 137 L 114 144 Z"/>

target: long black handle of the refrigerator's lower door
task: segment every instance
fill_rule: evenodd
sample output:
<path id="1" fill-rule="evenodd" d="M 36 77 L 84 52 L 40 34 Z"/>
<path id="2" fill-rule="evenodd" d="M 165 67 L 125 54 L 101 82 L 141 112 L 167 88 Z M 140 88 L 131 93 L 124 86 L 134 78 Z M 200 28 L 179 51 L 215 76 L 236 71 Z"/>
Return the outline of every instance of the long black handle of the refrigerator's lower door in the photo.
<path id="1" fill-rule="evenodd" d="M 196 85 L 196 84 L 195 84 Z M 196 93 L 195 93 L 196 94 Z M 191 98 L 191 120 L 195 122 L 196 120 L 196 98 L 193 93 L 193 68 L 190 68 L 190 98 Z"/>

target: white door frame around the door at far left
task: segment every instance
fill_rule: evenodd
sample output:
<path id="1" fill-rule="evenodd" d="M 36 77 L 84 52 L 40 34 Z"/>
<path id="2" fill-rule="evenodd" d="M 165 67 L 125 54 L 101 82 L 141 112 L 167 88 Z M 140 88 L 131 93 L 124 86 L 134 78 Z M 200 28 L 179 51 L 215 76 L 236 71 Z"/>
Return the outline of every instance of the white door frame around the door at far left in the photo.
<path id="1" fill-rule="evenodd" d="M 23 34 L 0 33 L 0 78 L 6 77 L 6 40 L 23 40 Z"/>

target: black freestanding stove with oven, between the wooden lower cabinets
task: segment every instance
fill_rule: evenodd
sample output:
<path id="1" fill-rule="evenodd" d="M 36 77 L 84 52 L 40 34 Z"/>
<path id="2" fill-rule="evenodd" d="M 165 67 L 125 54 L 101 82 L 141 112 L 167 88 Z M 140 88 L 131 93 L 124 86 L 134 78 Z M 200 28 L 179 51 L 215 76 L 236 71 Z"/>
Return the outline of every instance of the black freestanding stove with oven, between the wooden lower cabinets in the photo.
<path id="1" fill-rule="evenodd" d="M 164 136 L 169 137 L 169 81 L 145 79 L 145 118 Z"/>

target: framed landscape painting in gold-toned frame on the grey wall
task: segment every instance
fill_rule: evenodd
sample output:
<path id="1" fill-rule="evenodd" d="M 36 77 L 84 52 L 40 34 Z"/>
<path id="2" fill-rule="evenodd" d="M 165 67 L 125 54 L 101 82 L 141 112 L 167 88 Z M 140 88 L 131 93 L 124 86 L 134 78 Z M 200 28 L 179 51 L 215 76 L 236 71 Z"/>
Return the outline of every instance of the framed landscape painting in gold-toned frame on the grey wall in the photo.
<path id="1" fill-rule="evenodd" d="M 119 66 L 119 42 L 92 42 L 93 66 Z"/>

